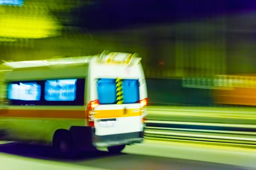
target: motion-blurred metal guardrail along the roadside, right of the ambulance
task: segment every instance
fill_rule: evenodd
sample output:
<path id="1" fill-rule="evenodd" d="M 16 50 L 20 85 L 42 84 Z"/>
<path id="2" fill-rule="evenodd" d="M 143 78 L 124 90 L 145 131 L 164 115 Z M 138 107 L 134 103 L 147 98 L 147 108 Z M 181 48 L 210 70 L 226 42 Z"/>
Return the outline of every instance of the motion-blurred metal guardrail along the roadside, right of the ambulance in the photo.
<path id="1" fill-rule="evenodd" d="M 145 137 L 256 144 L 255 108 L 149 107 Z"/>

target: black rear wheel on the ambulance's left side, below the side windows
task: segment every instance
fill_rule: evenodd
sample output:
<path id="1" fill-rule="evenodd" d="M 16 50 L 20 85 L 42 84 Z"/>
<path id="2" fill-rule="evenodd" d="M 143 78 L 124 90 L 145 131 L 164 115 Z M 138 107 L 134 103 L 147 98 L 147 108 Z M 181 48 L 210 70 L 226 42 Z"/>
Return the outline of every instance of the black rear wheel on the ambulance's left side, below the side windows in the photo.
<path id="1" fill-rule="evenodd" d="M 67 132 L 57 132 L 54 135 L 53 147 L 57 156 L 61 158 L 74 158 L 77 155 L 77 149 L 73 142 L 71 134 Z"/>

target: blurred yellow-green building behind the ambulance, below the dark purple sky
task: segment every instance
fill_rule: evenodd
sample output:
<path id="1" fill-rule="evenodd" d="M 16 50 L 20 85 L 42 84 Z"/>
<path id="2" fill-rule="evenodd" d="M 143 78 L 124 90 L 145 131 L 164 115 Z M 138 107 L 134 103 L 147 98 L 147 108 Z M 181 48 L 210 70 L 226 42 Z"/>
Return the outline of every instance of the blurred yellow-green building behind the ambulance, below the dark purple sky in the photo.
<path id="1" fill-rule="evenodd" d="M 147 77 L 207 77 L 256 71 L 254 12 L 88 31 L 76 24 L 81 21 L 72 14 L 74 9 L 79 13 L 79 6 L 88 6 L 89 10 L 93 3 L 26 0 L 20 6 L 0 5 L 1 59 L 81 56 L 109 50 L 140 53 Z M 94 17 L 93 12 L 90 14 L 84 17 Z"/>

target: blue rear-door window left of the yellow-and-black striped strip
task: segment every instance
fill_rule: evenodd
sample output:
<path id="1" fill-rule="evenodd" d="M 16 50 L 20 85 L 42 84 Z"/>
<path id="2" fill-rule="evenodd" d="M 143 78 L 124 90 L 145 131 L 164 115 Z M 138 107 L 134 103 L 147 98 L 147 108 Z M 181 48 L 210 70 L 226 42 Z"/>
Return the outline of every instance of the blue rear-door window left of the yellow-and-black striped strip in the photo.
<path id="1" fill-rule="evenodd" d="M 97 91 L 100 104 L 116 103 L 116 79 L 99 79 Z"/>

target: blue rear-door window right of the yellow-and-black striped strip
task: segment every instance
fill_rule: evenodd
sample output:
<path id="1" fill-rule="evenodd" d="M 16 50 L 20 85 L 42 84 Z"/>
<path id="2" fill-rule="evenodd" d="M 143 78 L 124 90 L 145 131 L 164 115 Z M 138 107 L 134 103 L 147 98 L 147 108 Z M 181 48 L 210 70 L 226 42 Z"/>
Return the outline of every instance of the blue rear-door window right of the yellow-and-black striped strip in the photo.
<path id="1" fill-rule="evenodd" d="M 137 79 L 124 79 L 122 82 L 124 103 L 137 103 L 140 101 L 140 83 Z"/>

